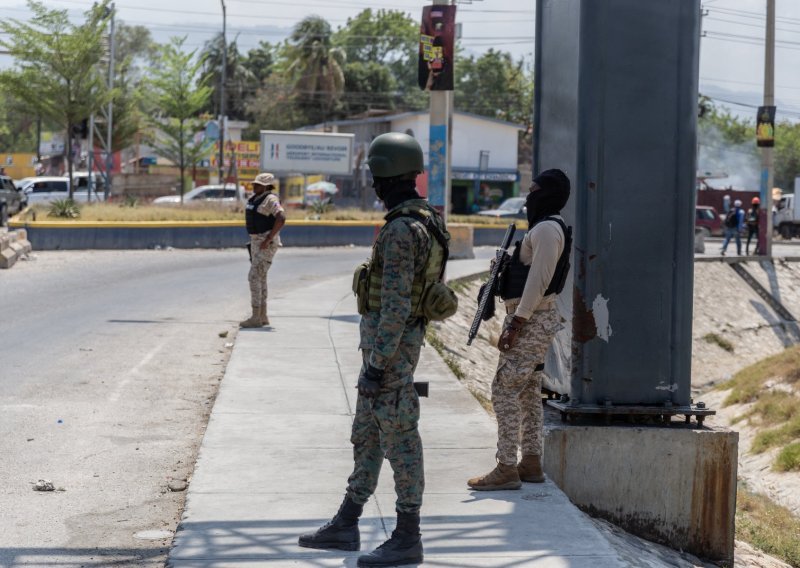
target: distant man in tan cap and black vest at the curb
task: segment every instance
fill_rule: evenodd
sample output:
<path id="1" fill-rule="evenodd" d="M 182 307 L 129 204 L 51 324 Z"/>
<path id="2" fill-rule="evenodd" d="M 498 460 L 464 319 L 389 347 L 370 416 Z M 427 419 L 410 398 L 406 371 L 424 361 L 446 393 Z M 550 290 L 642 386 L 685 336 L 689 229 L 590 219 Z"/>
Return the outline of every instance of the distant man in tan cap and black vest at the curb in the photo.
<path id="1" fill-rule="evenodd" d="M 275 189 L 275 176 L 261 173 L 253 180 L 253 196 L 247 200 L 245 224 L 250 235 L 250 305 L 253 314 L 239 322 L 240 327 L 269 325 L 267 317 L 267 271 L 281 246 L 278 232 L 286 222 Z"/>

